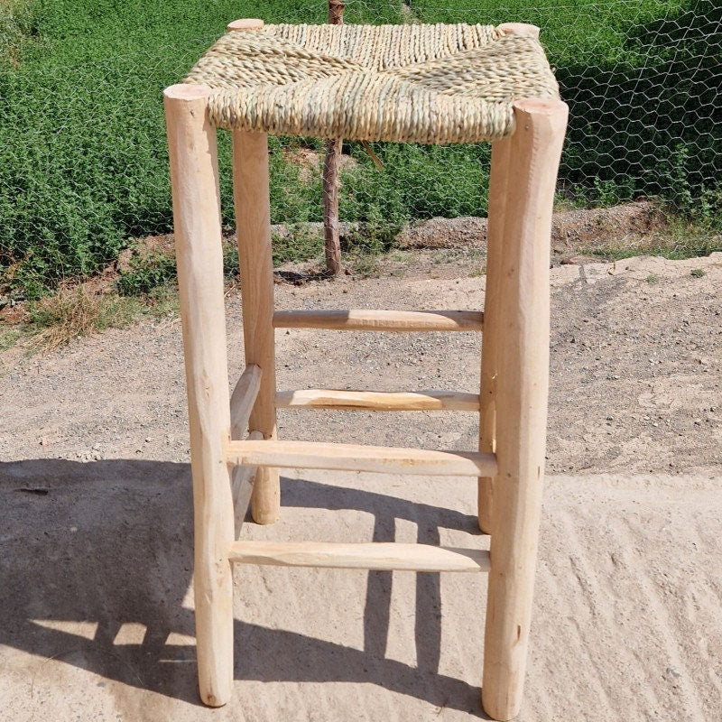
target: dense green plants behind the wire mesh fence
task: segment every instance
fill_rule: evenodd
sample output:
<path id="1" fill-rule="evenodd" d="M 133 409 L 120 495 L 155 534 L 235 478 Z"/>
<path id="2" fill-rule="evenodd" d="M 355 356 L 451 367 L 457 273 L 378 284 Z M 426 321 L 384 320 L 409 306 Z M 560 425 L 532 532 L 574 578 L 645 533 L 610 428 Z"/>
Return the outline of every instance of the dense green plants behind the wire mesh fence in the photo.
<path id="1" fill-rule="evenodd" d="M 38 295 L 112 263 L 135 237 L 169 232 L 162 88 L 236 16 L 323 23 L 328 14 L 325 2 L 292 0 L 67 8 L 0 5 L 0 294 Z M 715 0 L 350 0 L 344 18 L 539 25 L 570 109 L 560 205 L 654 199 L 697 224 L 698 252 L 722 245 Z M 219 143 L 232 224 L 226 133 Z M 404 224 L 425 218 L 486 215 L 487 145 L 372 146 L 383 171 L 360 145 L 344 144 L 340 218 L 364 225 L 357 243 L 388 245 Z M 272 138 L 271 152 L 273 222 L 321 221 L 323 142 Z M 279 261 L 298 253 L 287 241 L 276 249 Z"/>

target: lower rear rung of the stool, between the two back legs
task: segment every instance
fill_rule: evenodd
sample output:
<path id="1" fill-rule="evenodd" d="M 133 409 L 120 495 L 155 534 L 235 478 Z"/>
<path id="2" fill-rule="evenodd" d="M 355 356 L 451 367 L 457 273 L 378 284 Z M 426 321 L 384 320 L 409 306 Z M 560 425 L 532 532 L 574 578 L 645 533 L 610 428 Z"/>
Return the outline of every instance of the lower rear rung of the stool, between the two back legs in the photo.
<path id="1" fill-rule="evenodd" d="M 276 393 L 278 408 L 336 409 L 344 411 L 457 411 L 477 412 L 477 393 L 458 391 L 347 391 L 301 389 Z"/>

